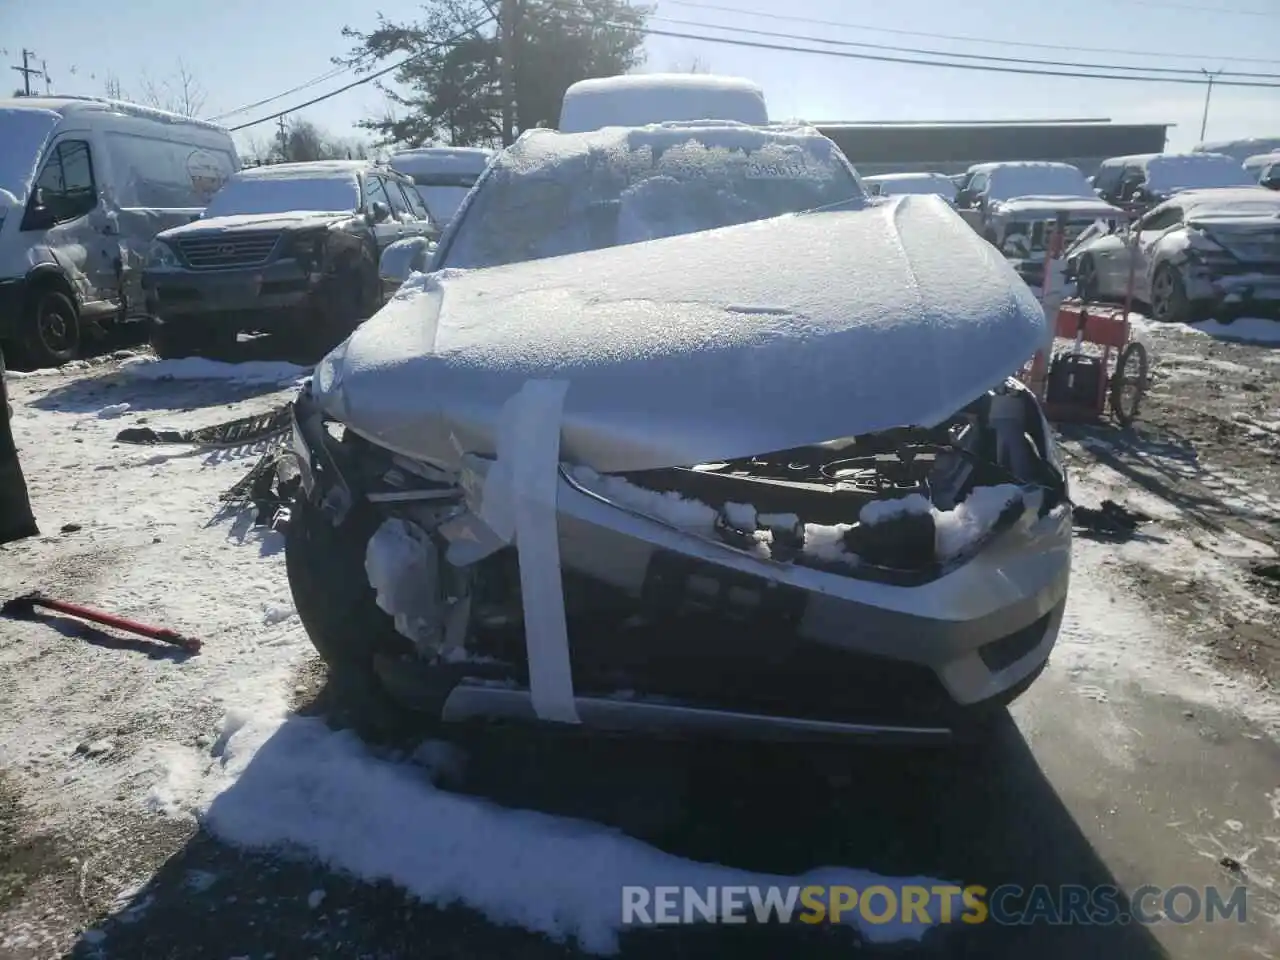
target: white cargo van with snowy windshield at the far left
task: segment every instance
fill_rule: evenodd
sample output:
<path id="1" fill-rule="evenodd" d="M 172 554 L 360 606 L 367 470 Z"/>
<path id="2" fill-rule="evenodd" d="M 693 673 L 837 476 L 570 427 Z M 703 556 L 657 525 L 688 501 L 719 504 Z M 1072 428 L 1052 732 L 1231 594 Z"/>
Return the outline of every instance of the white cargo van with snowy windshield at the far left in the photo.
<path id="1" fill-rule="evenodd" d="M 141 315 L 151 239 L 239 169 L 221 127 L 96 97 L 0 100 L 0 347 L 38 366 Z"/>

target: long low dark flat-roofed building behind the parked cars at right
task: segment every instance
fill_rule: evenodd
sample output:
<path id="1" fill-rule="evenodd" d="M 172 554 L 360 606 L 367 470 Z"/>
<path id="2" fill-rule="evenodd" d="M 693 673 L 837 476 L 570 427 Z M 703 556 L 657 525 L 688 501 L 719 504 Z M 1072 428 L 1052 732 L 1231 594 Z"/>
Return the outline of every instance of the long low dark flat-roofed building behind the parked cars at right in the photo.
<path id="1" fill-rule="evenodd" d="M 1164 151 L 1171 124 L 1073 119 L 814 125 L 865 177 L 902 170 L 963 173 L 973 164 L 997 160 L 1056 160 L 1092 177 L 1108 157 Z"/>

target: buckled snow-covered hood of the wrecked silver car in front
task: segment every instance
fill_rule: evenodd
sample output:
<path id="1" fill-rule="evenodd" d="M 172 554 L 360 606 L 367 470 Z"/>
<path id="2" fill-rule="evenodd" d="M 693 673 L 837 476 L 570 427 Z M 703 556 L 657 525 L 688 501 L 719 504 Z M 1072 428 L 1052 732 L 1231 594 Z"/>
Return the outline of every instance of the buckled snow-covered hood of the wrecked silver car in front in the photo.
<path id="1" fill-rule="evenodd" d="M 492 454 L 526 380 L 568 383 L 563 460 L 692 465 L 936 425 L 1043 343 L 1044 314 L 938 197 L 411 279 L 317 366 L 357 434 Z"/>

